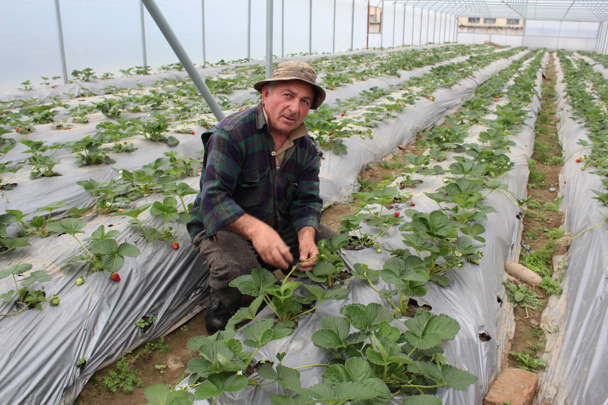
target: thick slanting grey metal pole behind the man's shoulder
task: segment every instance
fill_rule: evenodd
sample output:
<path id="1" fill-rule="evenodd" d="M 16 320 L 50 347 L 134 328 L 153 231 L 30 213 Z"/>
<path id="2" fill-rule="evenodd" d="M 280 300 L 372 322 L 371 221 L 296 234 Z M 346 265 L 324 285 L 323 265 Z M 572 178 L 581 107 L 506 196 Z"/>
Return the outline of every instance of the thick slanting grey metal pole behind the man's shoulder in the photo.
<path id="1" fill-rule="evenodd" d="M 182 44 L 179 43 L 178 37 L 175 36 L 171 26 L 169 26 L 169 23 L 162 15 L 161 10 L 159 10 L 158 6 L 156 5 L 156 2 L 154 2 L 154 0 L 142 0 L 142 2 L 143 5 L 146 6 L 146 9 L 148 9 L 148 13 L 150 13 L 154 19 L 154 22 L 156 22 L 159 30 L 161 30 L 162 35 L 164 35 L 165 39 L 167 39 L 171 49 L 173 49 L 175 55 L 178 56 L 178 59 L 184 66 L 184 69 L 186 72 L 188 72 L 188 75 L 190 75 L 190 78 L 192 79 L 196 88 L 199 90 L 199 92 L 201 92 L 202 97 L 205 99 L 207 104 L 209 104 L 215 118 L 217 118 L 218 121 L 223 120 L 224 113 L 222 112 L 222 109 L 218 106 L 215 99 L 213 99 L 213 95 L 209 91 L 209 87 L 207 87 L 205 81 L 202 80 L 201 75 L 199 75 L 196 67 L 194 67 L 192 60 L 190 60 L 190 57 L 186 53 L 184 47 L 182 47 Z"/>

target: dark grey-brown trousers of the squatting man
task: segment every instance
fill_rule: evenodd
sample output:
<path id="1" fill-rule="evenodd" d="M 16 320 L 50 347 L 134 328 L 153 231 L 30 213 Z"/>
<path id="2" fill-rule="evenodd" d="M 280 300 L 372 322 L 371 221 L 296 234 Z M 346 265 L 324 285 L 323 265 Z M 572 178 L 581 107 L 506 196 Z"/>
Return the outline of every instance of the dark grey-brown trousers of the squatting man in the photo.
<path id="1" fill-rule="evenodd" d="M 333 236 L 336 236 L 334 231 L 321 223 L 317 228 L 315 242 Z M 250 274 L 254 268 L 267 268 L 270 271 L 276 269 L 261 260 L 251 240 L 246 237 L 227 230 L 218 231 L 216 237 L 216 240 L 207 239 L 202 232 L 192 243 L 209 264 L 209 287 L 215 291 L 219 300 L 230 308 L 238 304 L 242 295 L 238 288 L 229 286 L 230 281 L 243 274 Z M 289 228 L 281 237 L 294 256 L 294 262 L 289 267 L 291 270 L 300 257 L 297 233 L 293 228 Z"/>

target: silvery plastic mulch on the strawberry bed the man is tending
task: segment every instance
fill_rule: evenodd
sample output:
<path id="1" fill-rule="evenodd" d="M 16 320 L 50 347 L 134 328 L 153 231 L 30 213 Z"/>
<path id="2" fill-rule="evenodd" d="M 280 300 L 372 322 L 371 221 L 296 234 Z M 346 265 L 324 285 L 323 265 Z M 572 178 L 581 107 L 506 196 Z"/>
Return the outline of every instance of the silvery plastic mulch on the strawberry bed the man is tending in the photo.
<path id="1" fill-rule="evenodd" d="M 547 58 L 544 60 L 546 64 Z M 544 65 L 543 65 L 544 66 Z M 542 84 L 542 72 L 539 71 L 536 79 L 536 92 L 540 94 Z M 436 93 L 436 100 L 440 100 L 440 94 Z M 501 101 L 502 103 L 502 101 Z M 512 138 L 516 146 L 511 147 L 509 157 L 514 162 L 514 168 L 504 175 L 500 180 L 509 186 L 518 199 L 524 199 L 527 193 L 528 158 L 531 157 L 534 139 L 534 121 L 540 109 L 539 97 L 534 95 L 530 104 L 530 118 L 525 120 L 526 126 L 522 125 L 522 131 Z M 491 115 L 486 115 L 491 118 Z M 399 126 L 395 124 L 397 129 Z M 469 128 L 471 135 L 466 141 L 476 142 L 478 132 L 483 130 L 481 126 Z M 374 138 L 376 139 L 376 138 Z M 349 149 L 349 154 L 359 152 L 357 149 Z M 441 163 L 449 166 L 453 160 Z M 325 162 L 323 162 L 325 164 Z M 343 173 L 347 175 L 347 173 Z M 416 209 L 430 212 L 437 209 L 436 203 L 426 197 L 424 191 L 433 192 L 443 185 L 444 175 L 427 176 L 424 183 L 418 184 L 413 190 L 412 201 Z M 404 191 L 412 191 L 405 189 Z M 455 389 L 439 389 L 437 395 L 444 404 L 469 405 L 480 404 L 488 392 L 489 385 L 496 379 L 500 371 L 503 351 L 506 341 L 513 336 L 514 319 L 513 306 L 508 302 L 504 293 L 502 281 L 506 279 L 504 264 L 508 260 L 519 257 L 519 240 L 522 230 L 520 209 L 504 194 L 492 192 L 484 202 L 496 208 L 497 213 L 488 214 L 488 220 L 483 222 L 486 233 L 486 247 L 482 248 L 483 258 L 481 265 L 465 264 L 460 270 L 450 270 L 446 275 L 450 279 L 448 287 L 437 287 L 429 283 L 429 290 L 423 298 L 418 298 L 418 304 L 428 304 L 433 313 L 446 313 L 455 318 L 460 324 L 460 332 L 454 341 L 444 341 L 444 349 L 449 363 L 467 370 L 478 376 L 479 381 L 469 386 L 466 391 Z M 403 211 L 410 208 L 409 205 L 395 205 L 393 211 Z M 386 211 L 385 211 L 386 212 Z M 364 232 L 367 230 L 363 230 Z M 373 231 L 373 230 L 372 230 Z M 375 233 L 375 232 L 373 232 Z M 379 239 L 386 249 L 406 248 L 402 243 L 402 237 L 395 227 L 390 228 Z M 344 253 L 347 267 L 352 269 L 354 263 L 362 263 L 373 269 L 380 269 L 384 262 L 390 258 L 388 253 L 382 251 L 377 253 L 375 249 L 347 250 Z M 304 280 L 306 282 L 306 280 Z M 353 279 L 345 283 L 350 291 L 348 301 L 326 301 L 317 307 L 311 315 L 299 321 L 291 336 L 272 341 L 265 345 L 255 356 L 256 360 L 275 359 L 277 353 L 286 352 L 282 364 L 287 367 L 298 367 L 306 364 L 326 364 L 332 356 L 317 348 L 310 337 L 320 328 L 321 319 L 325 316 L 339 316 L 339 310 L 343 305 L 361 303 L 368 304 L 376 302 L 389 308 L 389 304 L 379 297 L 366 282 Z M 383 288 L 380 282 L 376 287 Z M 385 286 L 384 286 L 385 287 Z M 502 302 L 497 297 L 502 297 Z M 263 310 L 259 318 L 264 314 L 271 316 L 270 311 Z M 404 331 L 403 320 L 395 320 L 392 325 Z M 489 341 L 481 341 L 480 333 L 486 333 L 491 337 Z M 238 332 L 237 338 L 244 340 L 243 333 Z M 300 381 L 303 386 L 311 386 L 320 383 L 321 372 L 318 367 L 300 369 Z M 256 374 L 254 373 L 254 375 Z M 184 379 L 178 387 L 187 385 Z M 275 394 L 287 394 L 278 384 L 247 386 L 245 389 L 235 393 L 223 393 L 216 404 L 268 404 L 269 397 Z M 401 403 L 401 398 L 395 396 L 391 405 Z M 207 401 L 195 401 L 196 405 L 208 404 Z"/>

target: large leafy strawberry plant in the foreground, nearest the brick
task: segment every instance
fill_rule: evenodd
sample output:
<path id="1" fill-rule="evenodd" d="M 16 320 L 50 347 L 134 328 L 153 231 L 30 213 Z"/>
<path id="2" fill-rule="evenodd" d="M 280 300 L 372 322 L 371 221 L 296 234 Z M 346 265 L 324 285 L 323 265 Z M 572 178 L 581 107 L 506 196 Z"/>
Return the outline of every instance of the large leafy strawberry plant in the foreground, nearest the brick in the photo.
<path id="1" fill-rule="evenodd" d="M 381 383 L 376 388 L 377 392 L 390 393 L 380 403 L 388 403 L 399 393 L 420 395 L 441 386 L 466 390 L 477 381 L 471 373 L 449 366 L 443 356 L 441 340 L 454 339 L 460 329 L 458 322 L 447 315 L 422 311 L 415 318 L 407 319 L 404 322 L 407 330 L 400 333 L 398 328 L 390 325 L 392 313 L 375 303 L 348 304 L 340 309 L 340 314 L 344 318 L 322 319 L 322 328 L 313 333 L 313 343 L 336 358 L 348 357 L 346 363 L 340 363 L 347 369 L 349 362 L 357 362 L 359 370 L 367 369 L 359 375 L 375 378 Z M 350 333 L 352 327 L 356 332 Z M 333 370 L 335 367 L 328 367 L 325 373 L 330 370 L 338 372 Z M 334 375 L 348 374 L 338 372 Z M 327 384 L 336 382 L 336 379 L 323 378 L 323 381 Z M 379 395 L 380 398 L 382 396 L 384 394 Z"/>

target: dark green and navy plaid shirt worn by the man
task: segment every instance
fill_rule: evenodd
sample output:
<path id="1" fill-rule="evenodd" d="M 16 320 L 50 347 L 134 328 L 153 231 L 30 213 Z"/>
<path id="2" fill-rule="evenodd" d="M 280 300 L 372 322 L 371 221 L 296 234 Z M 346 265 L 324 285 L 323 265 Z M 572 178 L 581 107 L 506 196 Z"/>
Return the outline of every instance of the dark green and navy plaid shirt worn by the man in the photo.
<path id="1" fill-rule="evenodd" d="M 230 115 L 201 135 L 205 152 L 201 191 L 187 224 L 190 237 L 204 231 L 212 239 L 247 213 L 279 232 L 319 226 L 320 153 L 311 137 L 294 141 L 277 169 L 274 140 L 262 104 Z"/>

